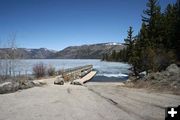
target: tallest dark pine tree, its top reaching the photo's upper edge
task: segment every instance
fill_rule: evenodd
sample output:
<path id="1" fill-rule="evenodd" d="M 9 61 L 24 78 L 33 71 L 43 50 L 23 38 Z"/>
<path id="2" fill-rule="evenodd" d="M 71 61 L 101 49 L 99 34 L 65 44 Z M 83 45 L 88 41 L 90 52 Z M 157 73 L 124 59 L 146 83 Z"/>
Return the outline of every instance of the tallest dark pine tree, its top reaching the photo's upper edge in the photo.
<path id="1" fill-rule="evenodd" d="M 157 0 L 148 0 L 147 9 L 143 11 L 142 21 L 146 24 L 148 30 L 148 39 L 151 47 L 159 47 L 162 42 L 161 24 L 162 18 L 160 6 Z"/>

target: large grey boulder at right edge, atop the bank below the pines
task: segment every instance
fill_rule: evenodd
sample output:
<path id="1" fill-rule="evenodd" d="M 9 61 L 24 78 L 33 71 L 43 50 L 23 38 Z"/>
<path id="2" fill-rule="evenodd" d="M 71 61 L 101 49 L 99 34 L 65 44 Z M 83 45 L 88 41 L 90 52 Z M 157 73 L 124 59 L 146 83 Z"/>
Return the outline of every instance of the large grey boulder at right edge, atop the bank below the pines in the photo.
<path id="1" fill-rule="evenodd" d="M 166 71 L 170 73 L 170 75 L 175 75 L 180 73 L 180 69 L 176 64 L 171 64 L 166 68 Z"/>

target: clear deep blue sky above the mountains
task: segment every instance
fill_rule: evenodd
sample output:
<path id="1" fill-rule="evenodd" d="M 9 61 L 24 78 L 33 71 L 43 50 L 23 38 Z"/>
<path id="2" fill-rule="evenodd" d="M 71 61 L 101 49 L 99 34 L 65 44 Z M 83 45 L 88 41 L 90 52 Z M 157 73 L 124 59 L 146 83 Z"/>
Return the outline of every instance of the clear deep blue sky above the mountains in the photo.
<path id="1" fill-rule="evenodd" d="M 0 0 L 0 42 L 16 33 L 18 47 L 123 42 L 129 26 L 141 26 L 147 0 Z M 164 9 L 175 0 L 159 0 Z"/>

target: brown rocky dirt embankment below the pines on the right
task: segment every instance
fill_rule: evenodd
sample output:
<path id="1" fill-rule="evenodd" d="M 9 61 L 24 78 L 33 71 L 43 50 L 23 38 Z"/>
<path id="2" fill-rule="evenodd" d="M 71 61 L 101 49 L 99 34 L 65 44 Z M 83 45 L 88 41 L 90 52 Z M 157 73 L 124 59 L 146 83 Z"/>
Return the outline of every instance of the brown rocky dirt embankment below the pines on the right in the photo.
<path id="1" fill-rule="evenodd" d="M 148 90 L 180 95 L 180 68 L 172 64 L 165 71 L 149 73 L 142 78 L 130 77 L 127 87 L 146 88 Z"/>

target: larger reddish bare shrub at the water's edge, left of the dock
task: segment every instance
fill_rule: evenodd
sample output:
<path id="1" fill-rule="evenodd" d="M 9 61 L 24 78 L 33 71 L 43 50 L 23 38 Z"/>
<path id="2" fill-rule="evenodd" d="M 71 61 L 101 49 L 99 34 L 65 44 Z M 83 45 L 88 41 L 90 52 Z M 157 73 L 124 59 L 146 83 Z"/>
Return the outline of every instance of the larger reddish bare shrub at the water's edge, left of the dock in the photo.
<path id="1" fill-rule="evenodd" d="M 44 77 L 46 74 L 46 67 L 43 63 L 35 64 L 33 67 L 33 73 L 36 78 Z"/>

